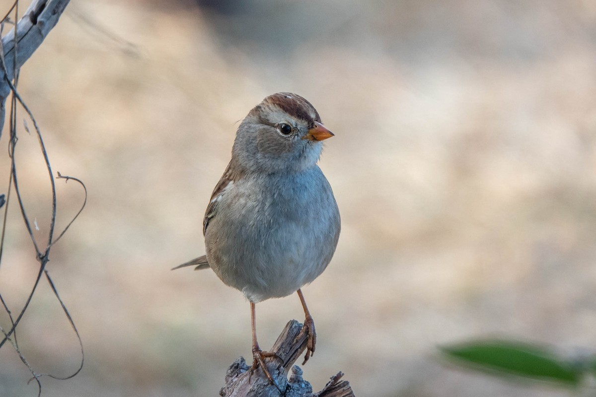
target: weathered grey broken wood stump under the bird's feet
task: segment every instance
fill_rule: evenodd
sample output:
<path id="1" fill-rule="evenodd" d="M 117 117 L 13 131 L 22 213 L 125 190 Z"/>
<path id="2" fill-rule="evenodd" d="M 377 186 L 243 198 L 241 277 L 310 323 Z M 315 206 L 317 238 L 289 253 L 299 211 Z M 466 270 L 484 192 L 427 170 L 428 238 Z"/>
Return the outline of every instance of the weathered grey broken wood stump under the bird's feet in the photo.
<path id="1" fill-rule="evenodd" d="M 332 376 L 330 382 L 320 392 L 312 392 L 311 384 L 302 378 L 302 369 L 293 365 L 306 349 L 308 336 L 302 335 L 297 338 L 301 329 L 302 324 L 298 321 L 288 322 L 270 350 L 277 357 L 264 359 L 277 386 L 269 383 L 260 368 L 251 374 L 244 357 L 240 357 L 229 366 L 225 376 L 226 385 L 222 387 L 219 395 L 222 397 L 355 397 L 349 382 L 341 380 L 343 376 L 341 372 Z M 290 367 L 292 374 L 288 379 Z"/>

